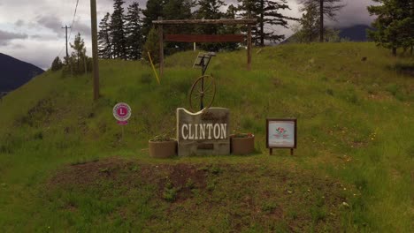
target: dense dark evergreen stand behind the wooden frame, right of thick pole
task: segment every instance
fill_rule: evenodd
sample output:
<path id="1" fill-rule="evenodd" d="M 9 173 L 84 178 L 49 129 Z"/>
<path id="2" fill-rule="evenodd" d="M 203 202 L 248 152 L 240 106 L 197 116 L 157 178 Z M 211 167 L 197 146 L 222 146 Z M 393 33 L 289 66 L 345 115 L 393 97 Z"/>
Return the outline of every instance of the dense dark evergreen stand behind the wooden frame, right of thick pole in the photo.
<path id="1" fill-rule="evenodd" d="M 149 0 L 145 9 L 133 3 L 124 11 L 124 0 L 114 0 L 113 12 L 106 13 L 99 25 L 99 56 L 102 58 L 140 59 L 142 54 L 153 46 L 157 39 L 152 25 L 153 20 L 163 19 L 257 19 L 252 28 L 252 41 L 257 46 L 265 46 L 265 41 L 282 41 L 285 36 L 278 34 L 274 26 L 288 28 L 288 20 L 297 20 L 281 13 L 290 10 L 287 0 L 238 0 L 236 5 L 227 5 L 222 0 Z M 225 9 L 226 11 L 222 11 Z M 168 34 L 240 34 L 246 32 L 246 26 L 168 26 Z M 149 40 L 151 39 L 151 40 Z M 201 43 L 201 49 L 219 51 L 237 49 L 234 42 Z M 190 49 L 191 44 L 169 42 L 165 44 L 165 53 Z"/>

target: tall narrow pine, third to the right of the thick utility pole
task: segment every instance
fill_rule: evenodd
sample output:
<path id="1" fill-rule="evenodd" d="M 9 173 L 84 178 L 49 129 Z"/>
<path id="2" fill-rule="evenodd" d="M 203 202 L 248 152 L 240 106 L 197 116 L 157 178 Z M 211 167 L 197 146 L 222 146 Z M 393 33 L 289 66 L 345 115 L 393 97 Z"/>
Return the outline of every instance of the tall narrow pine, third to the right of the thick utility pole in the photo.
<path id="1" fill-rule="evenodd" d="M 128 6 L 126 15 L 126 48 L 129 59 L 138 60 L 142 57 L 142 10 L 138 3 Z"/>

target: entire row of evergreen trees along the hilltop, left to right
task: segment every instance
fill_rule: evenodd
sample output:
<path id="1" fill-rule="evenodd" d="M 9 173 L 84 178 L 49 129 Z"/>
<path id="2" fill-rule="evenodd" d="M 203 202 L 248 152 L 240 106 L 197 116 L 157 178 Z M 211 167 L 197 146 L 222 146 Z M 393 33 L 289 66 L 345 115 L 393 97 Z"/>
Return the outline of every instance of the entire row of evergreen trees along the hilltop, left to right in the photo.
<path id="1" fill-rule="evenodd" d="M 377 16 L 372 22 L 374 30 L 368 35 L 379 46 L 391 49 L 396 55 L 397 49 L 414 47 L 414 2 L 412 0 L 373 0 L 377 4 L 368 7 L 371 15 Z M 163 19 L 257 19 L 252 27 L 252 41 L 257 46 L 265 46 L 266 41 L 277 42 L 285 39 L 278 34 L 275 26 L 288 28 L 289 21 L 295 20 L 293 30 L 295 42 L 341 41 L 339 31 L 326 27 L 326 19 L 336 20 L 336 15 L 345 6 L 342 0 L 302 0 L 300 19 L 288 17 L 282 13 L 290 10 L 287 0 L 237 0 L 237 4 L 226 5 L 223 0 L 148 0 L 145 9 L 137 2 L 124 8 L 124 0 L 114 0 L 113 12 L 107 12 L 99 24 L 99 56 L 104 59 L 120 58 L 138 60 L 148 58 L 158 60 L 158 34 L 153 20 Z M 222 11 L 225 9 L 226 11 Z M 168 26 L 168 34 L 243 34 L 246 26 Z M 238 43 L 200 43 L 201 49 L 209 51 L 234 50 Z M 80 34 L 75 37 L 71 47 L 75 50 L 65 57 L 65 69 L 71 72 L 88 71 L 88 57 L 85 55 Z M 165 43 L 165 54 L 192 48 L 191 44 L 180 42 Z M 63 67 L 57 57 L 52 65 L 54 70 Z M 85 65 L 81 65 L 85 64 Z M 84 67 L 84 68 L 82 68 Z"/>

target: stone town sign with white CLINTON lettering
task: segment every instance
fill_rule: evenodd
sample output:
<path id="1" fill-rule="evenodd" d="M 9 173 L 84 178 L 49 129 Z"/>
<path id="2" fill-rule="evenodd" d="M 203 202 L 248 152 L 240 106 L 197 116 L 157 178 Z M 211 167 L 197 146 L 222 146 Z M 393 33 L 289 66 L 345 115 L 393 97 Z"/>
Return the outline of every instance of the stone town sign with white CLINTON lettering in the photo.
<path id="1" fill-rule="evenodd" d="M 229 109 L 177 109 L 179 156 L 230 154 L 229 121 Z"/>

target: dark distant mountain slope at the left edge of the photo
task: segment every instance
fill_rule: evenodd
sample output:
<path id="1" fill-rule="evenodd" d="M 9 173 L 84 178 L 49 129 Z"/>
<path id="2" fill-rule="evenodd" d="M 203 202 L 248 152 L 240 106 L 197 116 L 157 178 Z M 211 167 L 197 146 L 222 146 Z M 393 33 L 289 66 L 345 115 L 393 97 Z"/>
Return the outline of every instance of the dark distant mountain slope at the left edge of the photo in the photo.
<path id="1" fill-rule="evenodd" d="M 11 92 L 44 72 L 41 68 L 0 53 L 0 93 Z"/>

